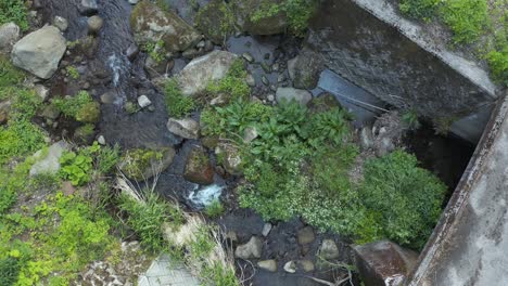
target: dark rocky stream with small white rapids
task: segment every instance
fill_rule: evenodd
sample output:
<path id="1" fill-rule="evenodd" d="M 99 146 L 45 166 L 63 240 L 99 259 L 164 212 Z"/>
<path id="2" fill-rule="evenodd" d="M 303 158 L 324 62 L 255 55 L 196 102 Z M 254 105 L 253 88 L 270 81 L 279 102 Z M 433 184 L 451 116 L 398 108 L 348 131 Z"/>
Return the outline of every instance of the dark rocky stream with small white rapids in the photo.
<path id="1" fill-rule="evenodd" d="M 87 17 L 78 12 L 78 0 L 46 0 L 43 1 L 42 15 L 46 20 L 51 20 L 59 15 L 68 20 L 68 29 L 64 34 L 68 41 L 82 39 L 87 35 Z M 195 13 L 186 0 L 167 0 L 172 8 L 188 22 L 192 22 Z M 207 1 L 198 1 L 204 4 Z M 164 96 L 150 81 L 144 70 L 147 55 L 140 53 L 134 61 L 130 61 L 126 51 L 135 43 L 129 25 L 131 5 L 126 0 L 104 0 L 99 1 L 99 15 L 104 20 L 104 26 L 97 39 L 97 51 L 89 55 L 81 56 L 79 51 L 72 51 L 64 61 L 71 62 L 84 70 L 80 82 L 65 82 L 62 75 L 54 76 L 49 84 L 53 94 L 74 94 L 82 89 L 86 82 L 89 83 L 89 92 L 96 100 L 100 101 L 104 94 L 110 94 L 111 103 L 101 104 L 102 118 L 98 126 L 98 135 L 103 135 L 109 144 L 119 144 L 123 148 L 135 147 L 164 147 L 174 146 L 177 155 L 172 166 L 161 173 L 156 190 L 166 197 L 177 198 L 191 210 L 202 209 L 219 196 L 226 202 L 228 212 L 217 220 L 219 225 L 227 231 L 234 231 L 240 242 L 249 239 L 252 235 L 262 236 L 265 222 L 262 218 L 249 209 L 236 207 L 234 195 L 232 195 L 237 180 L 234 178 L 221 178 L 215 174 L 215 184 L 208 187 L 201 187 L 186 181 L 182 177 L 186 159 L 194 145 L 200 145 L 199 141 L 181 140 L 173 135 L 166 127 L 168 115 L 165 108 Z M 50 21 L 47 21 L 50 22 Z M 256 37 L 239 36 L 227 39 L 225 48 L 233 53 L 242 55 L 250 53 L 254 57 L 254 64 L 250 64 L 247 69 L 256 79 L 254 94 L 275 93 L 274 87 L 279 84 L 279 74 L 288 77 L 288 72 L 267 73 L 259 64 L 266 62 L 268 65 L 278 63 L 280 68 L 287 69 L 287 61 L 299 53 L 301 47 L 299 39 L 287 36 Z M 220 47 L 215 47 L 220 49 Z M 175 65 L 170 75 L 178 73 L 189 60 L 179 57 L 175 60 Z M 268 80 L 268 84 L 263 84 L 263 78 Z M 86 81 L 86 82 L 85 82 Z M 287 84 L 287 83 L 280 83 Z M 341 104 L 355 116 L 355 127 L 360 128 L 366 123 L 372 123 L 382 113 L 386 105 L 361 88 L 348 82 L 338 74 L 325 69 L 319 78 L 318 87 L 312 91 L 314 95 L 321 92 L 329 92 L 336 96 Z M 141 110 L 128 114 L 124 106 L 128 101 L 136 101 L 140 95 L 147 95 L 152 101 L 152 110 Z M 193 114 L 194 118 L 199 114 Z M 63 128 L 72 129 L 64 126 Z M 427 130 L 427 131 L 426 131 Z M 420 140 L 421 138 L 426 140 Z M 453 190 L 463 171 L 473 146 L 465 145 L 460 148 L 456 141 L 443 136 L 433 135 L 429 129 L 415 132 L 407 139 L 409 150 L 417 156 L 424 158 L 423 165 L 436 172 Z M 436 143 L 437 142 L 437 143 Z M 454 143 L 455 142 L 455 143 Z M 428 152 L 430 148 L 432 152 Z M 453 151 L 456 152 L 453 152 Z M 453 152 L 453 153 L 450 153 Z M 448 157 L 445 154 L 452 154 Z M 443 159 L 444 158 L 444 159 Z M 460 161 L 460 164 L 456 164 Z M 465 165 L 466 164 L 466 165 Z M 296 232 L 305 224 L 300 219 L 290 222 L 275 223 L 271 232 L 266 237 L 266 248 L 262 259 L 280 260 L 316 260 L 316 251 L 326 238 L 332 238 L 338 243 L 341 253 L 340 260 L 344 263 L 353 263 L 353 255 L 347 240 L 342 237 L 322 233 L 316 234 L 316 239 L 304 251 L 300 249 L 295 242 Z M 288 285 L 288 286 L 310 286 L 320 285 L 301 273 L 289 274 L 284 272 L 282 265 L 275 273 L 267 271 L 255 272 L 252 265 L 245 261 L 238 261 L 239 268 L 246 277 L 252 276 L 253 285 Z M 312 273 L 314 276 L 329 280 L 335 276 L 329 270 L 320 270 Z"/>

